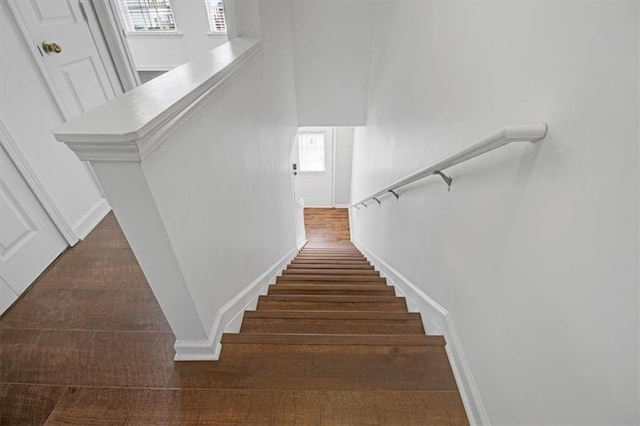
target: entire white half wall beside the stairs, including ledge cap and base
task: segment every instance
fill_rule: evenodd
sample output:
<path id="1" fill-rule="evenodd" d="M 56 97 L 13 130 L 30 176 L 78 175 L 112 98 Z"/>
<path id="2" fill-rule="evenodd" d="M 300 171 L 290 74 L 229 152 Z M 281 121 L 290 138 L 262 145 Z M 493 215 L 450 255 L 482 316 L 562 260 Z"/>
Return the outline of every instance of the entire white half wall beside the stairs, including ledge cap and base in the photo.
<path id="1" fill-rule="evenodd" d="M 261 39 L 236 37 L 55 132 L 92 163 L 176 335 L 176 360 L 217 359 L 222 333 L 301 242 L 291 5 L 259 14 Z"/>

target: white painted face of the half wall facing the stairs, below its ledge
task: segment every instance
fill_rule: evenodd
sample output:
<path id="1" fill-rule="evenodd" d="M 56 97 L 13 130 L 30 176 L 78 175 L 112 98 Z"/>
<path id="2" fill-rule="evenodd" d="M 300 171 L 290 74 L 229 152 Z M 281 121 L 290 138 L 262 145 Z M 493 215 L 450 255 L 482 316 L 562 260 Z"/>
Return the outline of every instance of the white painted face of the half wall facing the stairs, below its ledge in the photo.
<path id="1" fill-rule="evenodd" d="M 263 50 L 143 163 L 207 331 L 296 247 L 291 6 L 261 8 L 261 20 Z"/>

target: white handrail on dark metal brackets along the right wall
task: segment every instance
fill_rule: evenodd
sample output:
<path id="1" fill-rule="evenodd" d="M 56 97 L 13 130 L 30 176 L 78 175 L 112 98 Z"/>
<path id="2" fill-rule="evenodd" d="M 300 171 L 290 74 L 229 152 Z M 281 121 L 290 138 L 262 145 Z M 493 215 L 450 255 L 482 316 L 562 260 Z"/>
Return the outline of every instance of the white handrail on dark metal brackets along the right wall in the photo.
<path id="1" fill-rule="evenodd" d="M 379 198 L 386 194 L 393 194 L 398 198 L 398 194 L 395 192 L 397 189 L 413 183 L 417 180 L 423 179 L 427 176 L 440 175 L 445 181 L 451 185 L 452 179 L 442 173 L 443 170 L 449 167 L 460 164 L 463 161 L 470 160 L 486 152 L 493 151 L 496 148 L 510 144 L 511 142 L 536 142 L 543 139 L 547 134 L 547 125 L 545 123 L 533 124 L 526 126 L 505 126 L 499 130 L 496 130 L 489 136 L 482 138 L 479 142 L 471 145 L 469 148 L 460 151 L 457 154 L 452 155 L 442 161 L 432 164 L 424 169 L 418 170 L 409 176 L 400 179 L 391 185 L 385 186 L 383 189 L 374 192 L 368 197 L 363 198 L 357 203 L 351 204 L 351 207 L 357 207 L 359 205 L 366 206 L 366 202 L 369 200 L 380 203 Z"/>

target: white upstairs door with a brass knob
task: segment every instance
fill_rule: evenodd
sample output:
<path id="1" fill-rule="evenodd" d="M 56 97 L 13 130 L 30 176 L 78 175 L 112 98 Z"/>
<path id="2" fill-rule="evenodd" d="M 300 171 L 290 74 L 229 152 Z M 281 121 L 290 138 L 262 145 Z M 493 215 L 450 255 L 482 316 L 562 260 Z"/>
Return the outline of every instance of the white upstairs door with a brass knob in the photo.
<path id="1" fill-rule="evenodd" d="M 9 5 L 67 120 L 120 92 L 114 91 L 89 30 L 88 5 L 79 0 L 9 0 Z"/>

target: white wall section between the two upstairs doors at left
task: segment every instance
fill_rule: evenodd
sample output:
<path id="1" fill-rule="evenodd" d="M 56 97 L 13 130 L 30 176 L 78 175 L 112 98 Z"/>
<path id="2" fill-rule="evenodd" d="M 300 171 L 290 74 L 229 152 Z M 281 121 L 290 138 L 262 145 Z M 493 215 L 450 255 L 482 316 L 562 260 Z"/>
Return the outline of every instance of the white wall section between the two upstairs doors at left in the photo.
<path id="1" fill-rule="evenodd" d="M 51 133 L 64 119 L 7 2 L 0 5 L 0 31 L 0 121 L 64 220 L 82 238 L 106 204 L 91 172 Z"/>

